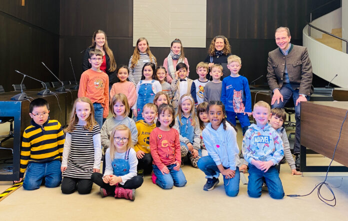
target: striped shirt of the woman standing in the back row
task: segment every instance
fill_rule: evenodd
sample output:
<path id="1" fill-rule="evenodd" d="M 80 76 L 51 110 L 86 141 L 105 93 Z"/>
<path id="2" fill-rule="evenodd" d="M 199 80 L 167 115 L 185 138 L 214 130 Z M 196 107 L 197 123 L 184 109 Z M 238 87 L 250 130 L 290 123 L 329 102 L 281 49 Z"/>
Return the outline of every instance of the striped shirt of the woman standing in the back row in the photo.
<path id="1" fill-rule="evenodd" d="M 142 71 L 142 67 L 144 66 L 145 63 L 147 62 L 152 62 L 154 64 L 156 64 L 154 62 L 154 57 L 152 57 L 152 60 L 150 59 L 150 56 L 147 53 L 140 53 L 139 59 L 137 61 L 137 63 L 135 64 L 135 66 L 133 68 L 131 68 L 131 60 L 133 59 L 133 55 L 130 56 L 129 58 L 129 63 L 128 63 L 128 68 L 129 68 L 129 76 L 128 79 L 130 82 L 134 83 L 134 86 L 137 85 L 137 83 L 140 81 L 141 79 L 141 71 Z"/>

